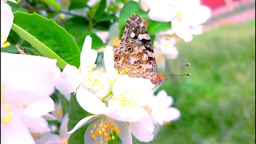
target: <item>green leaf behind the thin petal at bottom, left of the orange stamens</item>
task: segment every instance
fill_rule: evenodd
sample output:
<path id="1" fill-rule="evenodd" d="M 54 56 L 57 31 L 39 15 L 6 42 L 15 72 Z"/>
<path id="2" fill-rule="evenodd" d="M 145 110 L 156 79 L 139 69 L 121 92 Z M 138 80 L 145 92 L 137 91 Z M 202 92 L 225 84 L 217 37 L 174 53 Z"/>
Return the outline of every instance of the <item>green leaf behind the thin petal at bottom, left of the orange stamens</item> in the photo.
<path id="1" fill-rule="evenodd" d="M 69 101 L 69 112 L 68 112 L 68 131 L 72 130 L 75 125 L 88 113 L 79 105 L 76 100 L 76 96 L 71 94 L 71 99 Z M 80 129 L 76 130 L 73 134 L 70 135 L 68 143 L 84 144 L 84 133 L 88 125 L 82 126 Z"/>

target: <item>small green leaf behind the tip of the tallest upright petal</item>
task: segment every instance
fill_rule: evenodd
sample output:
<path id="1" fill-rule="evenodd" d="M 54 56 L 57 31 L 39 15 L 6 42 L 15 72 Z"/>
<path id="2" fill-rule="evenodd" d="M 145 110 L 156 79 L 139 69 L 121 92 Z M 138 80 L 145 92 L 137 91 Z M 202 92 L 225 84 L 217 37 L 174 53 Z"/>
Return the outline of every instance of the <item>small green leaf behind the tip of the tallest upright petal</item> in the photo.
<path id="1" fill-rule="evenodd" d="M 105 46 L 103 44 L 103 42 L 101 41 L 101 39 L 96 34 L 87 33 L 76 41 L 80 51 L 82 51 L 82 47 L 83 47 L 83 44 L 84 44 L 84 39 L 87 35 L 90 35 L 92 37 L 92 49 L 97 50 L 100 47 Z"/>

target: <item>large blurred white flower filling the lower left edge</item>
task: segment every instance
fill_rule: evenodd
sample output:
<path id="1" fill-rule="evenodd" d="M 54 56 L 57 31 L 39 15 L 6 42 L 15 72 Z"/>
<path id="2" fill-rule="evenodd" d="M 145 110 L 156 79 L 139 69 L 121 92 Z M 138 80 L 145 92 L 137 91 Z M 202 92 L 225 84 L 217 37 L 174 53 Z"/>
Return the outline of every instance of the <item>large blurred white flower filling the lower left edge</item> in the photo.
<path id="1" fill-rule="evenodd" d="M 35 143 L 30 132 L 50 131 L 42 116 L 54 110 L 49 95 L 59 81 L 56 62 L 34 55 L 1 53 L 3 143 Z"/>

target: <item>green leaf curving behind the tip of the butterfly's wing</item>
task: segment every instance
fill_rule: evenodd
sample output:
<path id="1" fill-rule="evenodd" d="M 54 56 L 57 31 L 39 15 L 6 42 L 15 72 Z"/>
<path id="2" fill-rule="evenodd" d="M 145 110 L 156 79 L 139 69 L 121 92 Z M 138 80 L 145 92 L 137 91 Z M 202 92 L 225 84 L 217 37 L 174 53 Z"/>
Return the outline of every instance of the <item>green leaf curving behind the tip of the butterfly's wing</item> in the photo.
<path id="1" fill-rule="evenodd" d="M 127 19 L 131 17 L 132 14 L 137 14 L 139 15 L 140 18 L 148 17 L 148 14 L 145 11 L 141 10 L 139 3 L 134 1 L 127 2 L 122 8 L 119 15 L 119 29 L 122 34 L 124 31 L 125 23 Z"/>

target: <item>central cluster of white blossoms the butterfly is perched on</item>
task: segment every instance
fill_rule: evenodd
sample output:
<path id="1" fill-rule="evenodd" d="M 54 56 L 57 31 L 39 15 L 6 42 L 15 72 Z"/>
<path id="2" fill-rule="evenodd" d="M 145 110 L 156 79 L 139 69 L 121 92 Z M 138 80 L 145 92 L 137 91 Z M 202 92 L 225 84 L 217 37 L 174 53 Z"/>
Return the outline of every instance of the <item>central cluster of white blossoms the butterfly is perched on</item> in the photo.
<path id="1" fill-rule="evenodd" d="M 57 86 L 63 94 L 75 92 L 79 105 L 92 114 L 81 119 L 69 133 L 89 124 L 85 143 L 107 143 L 115 139 L 114 132 L 123 143 L 132 143 L 132 134 L 148 142 L 154 138 L 154 125 L 179 118 L 179 110 L 170 107 L 172 98 L 164 91 L 155 97 L 154 84 L 149 79 L 117 73 L 111 46 L 106 46 L 103 54 L 106 71 L 94 70 L 97 51 L 91 49 L 91 44 L 92 38 L 86 36 L 80 67 L 67 65 Z"/>

